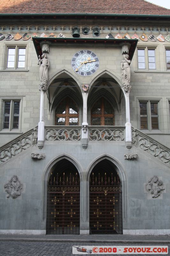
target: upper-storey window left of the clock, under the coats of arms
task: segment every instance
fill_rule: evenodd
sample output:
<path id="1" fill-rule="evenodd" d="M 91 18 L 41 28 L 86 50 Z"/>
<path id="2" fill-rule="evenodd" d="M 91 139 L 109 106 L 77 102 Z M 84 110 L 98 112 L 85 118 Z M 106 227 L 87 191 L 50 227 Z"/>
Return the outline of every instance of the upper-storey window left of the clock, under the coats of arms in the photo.
<path id="1" fill-rule="evenodd" d="M 26 47 L 8 46 L 5 68 L 24 69 L 26 68 Z"/>

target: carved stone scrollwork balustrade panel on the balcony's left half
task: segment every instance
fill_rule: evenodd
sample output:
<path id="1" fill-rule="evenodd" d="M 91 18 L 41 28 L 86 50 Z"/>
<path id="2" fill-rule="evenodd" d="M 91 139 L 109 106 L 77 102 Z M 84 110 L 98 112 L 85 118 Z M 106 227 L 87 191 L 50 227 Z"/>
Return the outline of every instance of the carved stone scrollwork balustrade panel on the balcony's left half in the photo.
<path id="1" fill-rule="evenodd" d="M 46 140 L 80 140 L 81 129 L 46 129 Z"/>

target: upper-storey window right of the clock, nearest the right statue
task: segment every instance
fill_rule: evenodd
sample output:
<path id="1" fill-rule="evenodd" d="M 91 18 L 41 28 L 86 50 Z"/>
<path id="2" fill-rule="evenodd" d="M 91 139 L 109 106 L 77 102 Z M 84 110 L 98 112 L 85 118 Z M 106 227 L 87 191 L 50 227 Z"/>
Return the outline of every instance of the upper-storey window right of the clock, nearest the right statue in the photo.
<path id="1" fill-rule="evenodd" d="M 156 69 L 155 49 L 137 49 L 137 54 L 138 69 Z"/>

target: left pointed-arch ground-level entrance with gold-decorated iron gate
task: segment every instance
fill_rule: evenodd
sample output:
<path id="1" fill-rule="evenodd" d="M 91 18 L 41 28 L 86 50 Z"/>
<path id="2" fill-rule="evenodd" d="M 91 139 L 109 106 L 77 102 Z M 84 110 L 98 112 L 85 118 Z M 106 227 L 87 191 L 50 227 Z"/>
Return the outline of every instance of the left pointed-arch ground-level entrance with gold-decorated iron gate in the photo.
<path id="1" fill-rule="evenodd" d="M 48 179 L 47 234 L 79 234 L 80 177 L 70 161 L 57 162 Z"/>

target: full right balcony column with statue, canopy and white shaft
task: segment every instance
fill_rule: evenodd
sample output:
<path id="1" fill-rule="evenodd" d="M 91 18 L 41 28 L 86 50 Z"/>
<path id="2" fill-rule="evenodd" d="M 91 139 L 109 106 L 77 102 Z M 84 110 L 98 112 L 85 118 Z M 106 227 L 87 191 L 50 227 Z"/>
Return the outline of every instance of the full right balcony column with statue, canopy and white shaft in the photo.
<path id="1" fill-rule="evenodd" d="M 126 131 L 126 147 L 132 147 L 132 132 L 131 132 L 131 123 L 130 123 L 130 105 L 129 105 L 129 92 L 131 91 L 130 86 L 130 60 L 129 60 L 129 43 L 121 43 L 122 46 L 122 55 L 123 60 L 121 61 L 121 68 L 122 68 L 122 84 L 123 84 L 123 93 L 125 96 L 125 103 L 126 103 L 126 124 L 125 124 L 125 131 Z"/>

